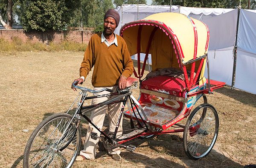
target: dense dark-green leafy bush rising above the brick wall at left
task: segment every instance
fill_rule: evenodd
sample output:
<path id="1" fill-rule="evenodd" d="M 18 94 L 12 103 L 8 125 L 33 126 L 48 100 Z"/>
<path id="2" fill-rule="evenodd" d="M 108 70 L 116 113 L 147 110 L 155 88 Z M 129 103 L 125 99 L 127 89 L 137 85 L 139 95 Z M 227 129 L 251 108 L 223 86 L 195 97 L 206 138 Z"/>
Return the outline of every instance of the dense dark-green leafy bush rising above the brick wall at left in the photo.
<path id="1" fill-rule="evenodd" d="M 77 0 L 24 0 L 21 3 L 21 24 L 26 31 L 62 30 L 72 23 Z"/>

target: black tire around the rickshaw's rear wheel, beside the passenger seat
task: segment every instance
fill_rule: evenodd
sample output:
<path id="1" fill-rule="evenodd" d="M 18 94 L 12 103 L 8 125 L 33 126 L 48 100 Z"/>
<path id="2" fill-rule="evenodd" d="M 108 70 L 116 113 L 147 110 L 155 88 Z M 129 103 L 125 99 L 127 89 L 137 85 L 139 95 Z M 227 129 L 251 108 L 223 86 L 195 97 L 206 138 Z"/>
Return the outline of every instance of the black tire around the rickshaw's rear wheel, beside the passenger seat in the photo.
<path id="1" fill-rule="evenodd" d="M 189 152 L 188 145 L 187 145 L 187 135 L 188 135 L 188 131 L 189 131 L 189 125 L 190 125 L 193 117 L 195 116 L 195 114 L 198 112 L 198 110 L 200 110 L 201 108 L 204 108 L 202 116 L 201 116 L 200 119 L 204 120 L 204 118 L 206 117 L 207 110 L 205 109 L 205 107 L 210 108 L 212 110 L 212 112 L 214 113 L 214 117 L 215 117 L 214 137 L 212 138 L 212 142 L 209 145 L 208 150 L 206 151 L 207 153 L 205 152 L 201 156 L 195 157 L 192 154 L 190 154 L 190 152 Z M 218 137 L 218 127 L 219 127 L 218 113 L 217 113 L 217 110 L 211 104 L 204 103 L 204 104 L 201 104 L 198 107 L 196 107 L 192 111 L 192 113 L 189 115 L 189 117 L 188 117 L 188 119 L 186 121 L 185 130 L 183 132 L 183 148 L 184 148 L 184 151 L 186 152 L 186 155 L 189 156 L 189 158 L 194 159 L 194 160 L 198 160 L 198 159 L 200 159 L 202 157 L 207 156 L 210 153 L 210 151 L 212 150 L 212 148 L 213 148 L 213 146 L 214 146 L 214 144 L 215 144 L 215 142 L 217 140 L 217 137 Z"/>

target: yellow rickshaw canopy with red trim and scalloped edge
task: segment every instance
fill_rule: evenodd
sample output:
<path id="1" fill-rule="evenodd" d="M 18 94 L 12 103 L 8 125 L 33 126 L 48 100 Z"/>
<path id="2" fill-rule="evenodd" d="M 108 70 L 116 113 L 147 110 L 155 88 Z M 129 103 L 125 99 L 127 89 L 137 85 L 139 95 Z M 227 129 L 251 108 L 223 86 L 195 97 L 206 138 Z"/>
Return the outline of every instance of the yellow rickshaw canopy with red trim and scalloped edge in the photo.
<path id="1" fill-rule="evenodd" d="M 155 27 L 158 29 L 150 39 Z M 180 57 L 180 61 L 186 63 L 206 54 L 208 50 L 209 31 L 207 26 L 184 14 L 157 13 L 145 17 L 143 20 L 125 24 L 120 30 L 120 35 L 125 39 L 131 55 L 139 52 L 137 51 L 138 34 L 141 36 L 141 53 L 146 53 L 148 42 L 151 41 L 149 54 L 152 57 L 153 70 L 179 67 L 175 52 Z"/>

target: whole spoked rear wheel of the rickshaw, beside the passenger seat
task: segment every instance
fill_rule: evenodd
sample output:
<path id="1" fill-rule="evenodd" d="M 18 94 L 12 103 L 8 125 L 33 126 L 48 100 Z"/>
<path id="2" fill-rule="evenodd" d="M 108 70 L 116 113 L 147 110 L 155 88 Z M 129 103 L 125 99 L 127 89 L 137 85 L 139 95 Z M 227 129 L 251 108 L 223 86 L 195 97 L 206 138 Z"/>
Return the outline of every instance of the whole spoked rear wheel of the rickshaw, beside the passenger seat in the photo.
<path id="1" fill-rule="evenodd" d="M 218 136 L 218 114 L 211 104 L 201 104 L 190 114 L 183 133 L 183 147 L 191 159 L 207 156 Z"/>

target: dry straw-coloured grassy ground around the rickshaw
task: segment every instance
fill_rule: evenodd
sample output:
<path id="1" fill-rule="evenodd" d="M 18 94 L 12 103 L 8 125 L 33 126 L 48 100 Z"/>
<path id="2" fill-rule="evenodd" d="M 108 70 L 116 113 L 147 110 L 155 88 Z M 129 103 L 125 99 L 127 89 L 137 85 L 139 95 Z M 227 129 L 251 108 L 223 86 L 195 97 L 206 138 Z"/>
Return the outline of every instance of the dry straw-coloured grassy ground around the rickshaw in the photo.
<path id="1" fill-rule="evenodd" d="M 70 85 L 79 77 L 82 58 L 83 52 L 0 53 L 0 168 L 22 167 L 26 142 L 38 123 L 68 110 L 77 96 Z M 90 77 L 84 86 L 91 87 Z M 138 89 L 133 93 L 138 97 Z M 134 153 L 122 150 L 121 162 L 111 159 L 100 143 L 95 160 L 76 162 L 73 167 L 239 168 L 256 164 L 256 95 L 224 87 L 207 98 L 220 120 L 217 142 L 207 157 L 189 159 L 183 151 L 182 133 L 174 133 L 134 140 L 137 149 Z"/>

